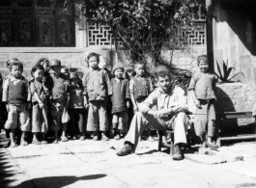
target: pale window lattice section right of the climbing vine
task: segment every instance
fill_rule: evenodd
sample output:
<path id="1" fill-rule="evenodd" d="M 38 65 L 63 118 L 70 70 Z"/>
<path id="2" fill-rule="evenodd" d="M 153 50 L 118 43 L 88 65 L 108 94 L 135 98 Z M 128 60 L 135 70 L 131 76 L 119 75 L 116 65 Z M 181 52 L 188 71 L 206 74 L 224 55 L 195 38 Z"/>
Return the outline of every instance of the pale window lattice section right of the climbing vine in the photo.
<path id="1" fill-rule="evenodd" d="M 205 45 L 206 44 L 206 23 L 195 23 L 193 29 L 186 32 L 188 44 Z"/>

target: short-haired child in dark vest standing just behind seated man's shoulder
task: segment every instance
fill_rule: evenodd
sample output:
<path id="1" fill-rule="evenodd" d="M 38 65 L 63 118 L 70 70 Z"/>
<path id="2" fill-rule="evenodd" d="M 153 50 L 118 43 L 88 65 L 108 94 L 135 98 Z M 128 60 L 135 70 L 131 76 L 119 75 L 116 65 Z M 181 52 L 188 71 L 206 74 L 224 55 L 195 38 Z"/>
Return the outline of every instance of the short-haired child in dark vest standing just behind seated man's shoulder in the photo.
<path id="1" fill-rule="evenodd" d="M 141 62 L 134 64 L 135 76 L 129 81 L 130 99 L 133 111 L 137 112 L 144 100 L 154 91 L 152 81 L 146 76 L 146 67 Z M 148 140 L 154 142 L 151 136 L 151 129 L 147 129 Z"/>

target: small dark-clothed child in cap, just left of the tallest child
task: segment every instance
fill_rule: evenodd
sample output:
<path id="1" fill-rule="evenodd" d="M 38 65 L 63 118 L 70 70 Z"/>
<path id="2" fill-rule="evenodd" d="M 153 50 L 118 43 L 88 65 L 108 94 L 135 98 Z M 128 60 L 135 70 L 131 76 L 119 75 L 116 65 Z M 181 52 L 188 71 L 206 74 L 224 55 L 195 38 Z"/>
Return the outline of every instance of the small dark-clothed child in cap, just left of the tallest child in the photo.
<path id="1" fill-rule="evenodd" d="M 83 88 L 78 84 L 78 76 L 75 72 L 70 73 L 70 106 L 71 116 L 71 138 L 77 139 L 77 132 L 80 133 L 80 141 L 85 140 L 85 109 L 83 101 Z M 78 131 L 77 131 L 78 130 Z"/>

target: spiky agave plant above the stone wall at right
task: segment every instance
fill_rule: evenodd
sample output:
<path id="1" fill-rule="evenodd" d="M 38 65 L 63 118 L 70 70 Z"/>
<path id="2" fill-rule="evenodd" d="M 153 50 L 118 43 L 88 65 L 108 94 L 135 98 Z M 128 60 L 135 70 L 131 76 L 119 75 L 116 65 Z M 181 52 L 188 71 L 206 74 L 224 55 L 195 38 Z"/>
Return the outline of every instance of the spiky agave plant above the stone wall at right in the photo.
<path id="1" fill-rule="evenodd" d="M 216 61 L 217 63 L 217 61 Z M 238 72 L 236 73 L 234 76 L 232 76 L 231 78 L 229 77 L 230 76 L 230 73 L 232 71 L 232 69 L 235 69 L 235 67 L 228 67 L 228 60 L 227 60 L 227 63 L 225 63 L 223 61 L 223 74 L 220 70 L 220 66 L 218 65 L 217 63 L 217 70 L 218 70 L 218 74 L 215 73 L 215 75 L 218 77 L 218 79 L 220 79 L 222 82 L 232 82 L 231 80 L 237 76 L 238 74 L 242 74 L 242 76 L 244 77 L 243 73 L 242 72 Z"/>

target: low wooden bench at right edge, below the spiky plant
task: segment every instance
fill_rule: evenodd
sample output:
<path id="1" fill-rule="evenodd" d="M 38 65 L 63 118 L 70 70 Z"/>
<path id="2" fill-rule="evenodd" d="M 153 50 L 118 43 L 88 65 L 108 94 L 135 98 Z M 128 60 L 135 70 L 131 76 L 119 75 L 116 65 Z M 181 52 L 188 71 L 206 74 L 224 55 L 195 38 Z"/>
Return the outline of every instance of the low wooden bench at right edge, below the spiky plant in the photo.
<path id="1" fill-rule="evenodd" d="M 224 112 L 216 115 L 217 121 L 230 120 L 230 119 L 245 119 L 253 118 L 252 112 Z M 219 131 L 216 134 L 216 144 L 221 147 L 221 141 L 233 141 L 233 140 L 246 140 L 246 139 L 256 139 L 256 134 L 250 135 L 238 135 L 232 137 L 219 137 Z"/>

